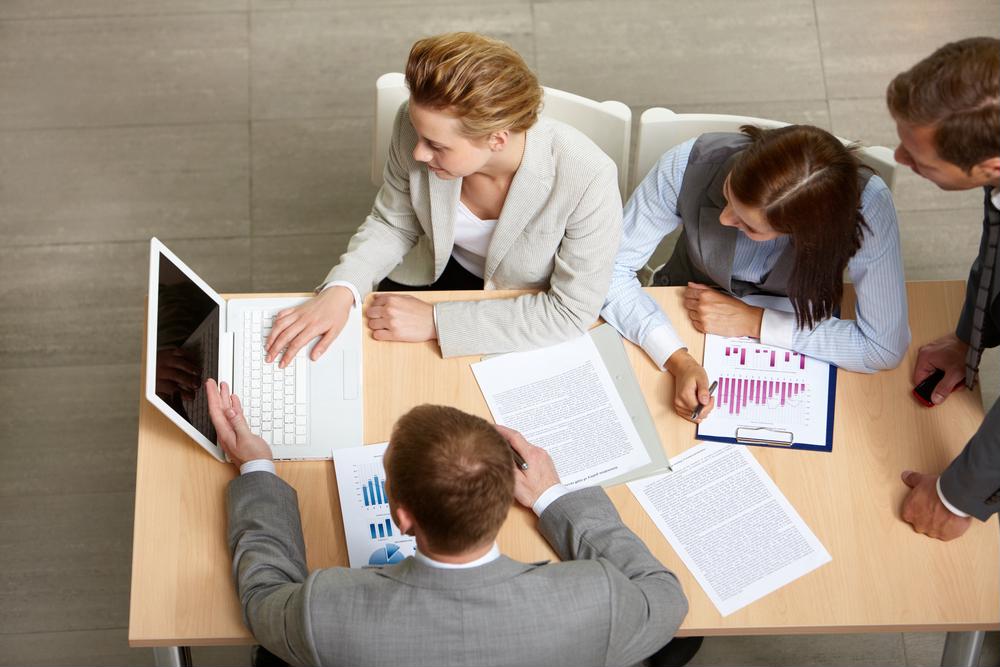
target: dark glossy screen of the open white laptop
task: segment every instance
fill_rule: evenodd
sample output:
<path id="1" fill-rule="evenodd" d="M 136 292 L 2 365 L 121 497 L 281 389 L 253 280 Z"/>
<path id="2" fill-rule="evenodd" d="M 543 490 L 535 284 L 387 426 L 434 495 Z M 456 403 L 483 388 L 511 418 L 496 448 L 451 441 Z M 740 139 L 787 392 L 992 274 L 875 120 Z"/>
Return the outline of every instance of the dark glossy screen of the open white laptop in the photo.
<path id="1" fill-rule="evenodd" d="M 156 394 L 210 442 L 205 380 L 219 377 L 219 304 L 160 253 Z"/>

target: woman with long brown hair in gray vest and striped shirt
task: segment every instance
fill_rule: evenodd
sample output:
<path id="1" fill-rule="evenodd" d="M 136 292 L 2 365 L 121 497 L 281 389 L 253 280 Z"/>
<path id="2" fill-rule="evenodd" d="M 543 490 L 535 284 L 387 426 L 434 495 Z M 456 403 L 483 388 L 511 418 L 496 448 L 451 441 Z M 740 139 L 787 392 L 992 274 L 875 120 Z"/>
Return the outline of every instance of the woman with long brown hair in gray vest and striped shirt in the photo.
<path id="1" fill-rule="evenodd" d="M 705 369 L 636 278 L 678 227 L 656 285 L 686 286 L 698 331 L 749 336 L 841 368 L 899 364 L 910 343 L 899 229 L 886 184 L 855 149 L 808 125 L 710 133 L 660 158 L 629 199 L 611 289 L 601 312 L 675 379 L 674 408 L 711 410 Z M 836 317 L 844 270 L 854 320 Z M 750 305 L 749 295 L 788 297 L 793 312 Z"/>

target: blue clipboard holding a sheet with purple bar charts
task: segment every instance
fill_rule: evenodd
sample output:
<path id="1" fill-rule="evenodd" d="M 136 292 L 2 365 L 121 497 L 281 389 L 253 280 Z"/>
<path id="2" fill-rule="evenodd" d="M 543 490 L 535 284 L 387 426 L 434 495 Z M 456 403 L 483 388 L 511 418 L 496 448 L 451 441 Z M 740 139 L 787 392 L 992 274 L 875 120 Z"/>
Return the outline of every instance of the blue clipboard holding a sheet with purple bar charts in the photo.
<path id="1" fill-rule="evenodd" d="M 753 338 L 705 336 L 705 371 L 717 380 L 715 409 L 700 440 L 829 450 L 836 369 Z"/>

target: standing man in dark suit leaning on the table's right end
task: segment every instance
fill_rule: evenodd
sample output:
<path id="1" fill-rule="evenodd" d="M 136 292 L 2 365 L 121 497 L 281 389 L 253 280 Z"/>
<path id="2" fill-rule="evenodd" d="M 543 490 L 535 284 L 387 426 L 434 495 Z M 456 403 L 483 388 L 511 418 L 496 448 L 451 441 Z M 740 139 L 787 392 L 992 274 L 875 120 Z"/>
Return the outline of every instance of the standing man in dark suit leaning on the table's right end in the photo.
<path id="1" fill-rule="evenodd" d="M 971 389 L 983 349 L 1000 345 L 1000 40 L 945 44 L 893 79 L 886 98 L 898 162 L 943 190 L 984 190 L 983 235 L 958 326 L 920 348 L 913 371 L 915 384 L 944 371 L 932 396 L 939 404 L 956 388 Z M 985 521 L 1000 510 L 1000 402 L 940 476 L 907 470 L 903 481 L 903 519 L 930 537 L 954 539 L 970 517 Z"/>

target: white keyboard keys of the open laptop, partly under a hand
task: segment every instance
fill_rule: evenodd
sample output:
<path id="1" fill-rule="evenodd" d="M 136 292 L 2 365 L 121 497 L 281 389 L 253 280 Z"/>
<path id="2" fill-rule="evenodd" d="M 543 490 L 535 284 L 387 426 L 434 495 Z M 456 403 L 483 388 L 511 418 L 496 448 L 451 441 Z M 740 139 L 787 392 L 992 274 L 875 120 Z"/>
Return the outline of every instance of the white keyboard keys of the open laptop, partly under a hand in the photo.
<path id="1" fill-rule="evenodd" d="M 250 430 L 271 445 L 305 445 L 309 433 L 309 364 L 305 350 L 285 368 L 264 361 L 274 314 L 243 314 L 243 409 Z"/>

